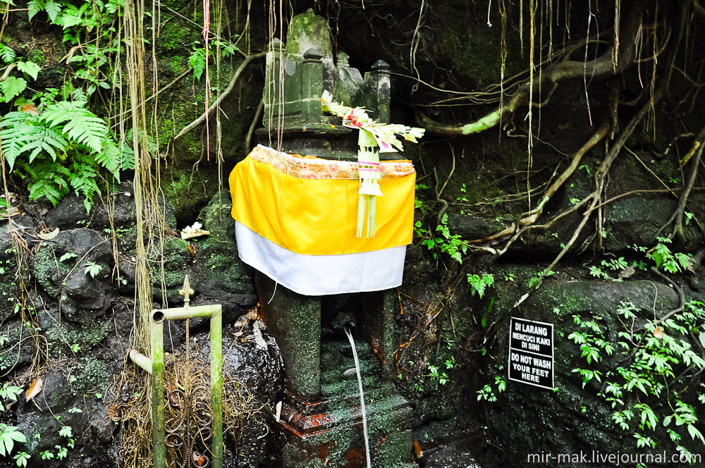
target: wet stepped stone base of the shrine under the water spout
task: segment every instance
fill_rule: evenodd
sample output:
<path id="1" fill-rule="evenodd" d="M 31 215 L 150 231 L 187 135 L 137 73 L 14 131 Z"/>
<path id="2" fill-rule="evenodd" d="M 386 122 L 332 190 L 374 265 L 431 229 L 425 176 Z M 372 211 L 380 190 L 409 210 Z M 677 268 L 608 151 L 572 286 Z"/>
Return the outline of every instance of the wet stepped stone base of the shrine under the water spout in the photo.
<path id="1" fill-rule="evenodd" d="M 413 467 L 412 410 L 393 384 L 381 378 L 372 348 L 356 341 L 372 464 Z M 321 394 L 305 402 L 287 394 L 282 405 L 280 450 L 285 468 L 366 467 L 360 394 L 357 378 L 343 377 L 354 369 L 347 340 L 321 343 Z"/>

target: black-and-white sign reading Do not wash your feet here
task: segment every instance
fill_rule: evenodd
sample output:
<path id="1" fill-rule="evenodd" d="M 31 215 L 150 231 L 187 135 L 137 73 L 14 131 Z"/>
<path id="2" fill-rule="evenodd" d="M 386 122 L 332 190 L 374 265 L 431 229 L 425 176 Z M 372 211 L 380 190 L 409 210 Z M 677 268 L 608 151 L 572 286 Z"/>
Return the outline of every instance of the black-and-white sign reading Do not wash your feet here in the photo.
<path id="1" fill-rule="evenodd" d="M 553 388 L 553 324 L 511 318 L 509 380 Z"/>

